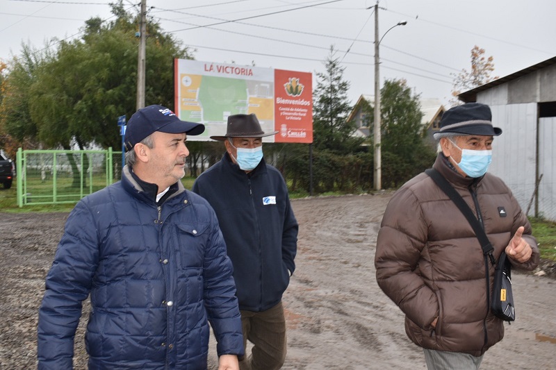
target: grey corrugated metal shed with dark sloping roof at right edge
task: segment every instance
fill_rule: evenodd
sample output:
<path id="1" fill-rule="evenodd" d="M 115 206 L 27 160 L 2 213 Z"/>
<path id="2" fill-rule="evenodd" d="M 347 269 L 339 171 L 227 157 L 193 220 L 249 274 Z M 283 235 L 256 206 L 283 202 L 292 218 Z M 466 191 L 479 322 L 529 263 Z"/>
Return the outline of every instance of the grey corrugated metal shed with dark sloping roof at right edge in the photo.
<path id="1" fill-rule="evenodd" d="M 556 221 L 556 57 L 458 98 L 489 105 L 494 126 L 502 128 L 489 171 L 505 181 L 528 215 Z"/>

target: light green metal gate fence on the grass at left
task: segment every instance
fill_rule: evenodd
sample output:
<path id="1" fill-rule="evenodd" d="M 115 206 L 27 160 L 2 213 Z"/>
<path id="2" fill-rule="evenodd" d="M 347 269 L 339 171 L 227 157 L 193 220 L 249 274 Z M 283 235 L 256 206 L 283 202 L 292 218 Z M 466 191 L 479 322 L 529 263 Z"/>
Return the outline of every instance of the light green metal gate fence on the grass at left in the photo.
<path id="1" fill-rule="evenodd" d="M 17 205 L 76 203 L 120 179 L 122 152 L 17 151 Z"/>

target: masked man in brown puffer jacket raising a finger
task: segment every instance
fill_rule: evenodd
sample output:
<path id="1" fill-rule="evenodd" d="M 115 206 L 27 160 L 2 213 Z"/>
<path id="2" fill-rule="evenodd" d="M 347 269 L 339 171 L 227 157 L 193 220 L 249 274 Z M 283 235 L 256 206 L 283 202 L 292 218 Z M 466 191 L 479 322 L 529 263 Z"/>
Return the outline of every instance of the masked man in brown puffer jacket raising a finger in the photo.
<path id="1" fill-rule="evenodd" d="M 531 271 L 539 263 L 531 225 L 505 183 L 487 172 L 501 133 L 489 106 L 450 108 L 434 134 L 433 169 L 473 210 L 493 257 L 505 252 L 513 267 Z M 405 314 L 408 337 L 423 347 L 428 369 L 478 369 L 485 351 L 502 340 L 503 321 L 489 309 L 494 267 L 466 217 L 427 174 L 392 196 L 375 267 L 379 286 Z"/>

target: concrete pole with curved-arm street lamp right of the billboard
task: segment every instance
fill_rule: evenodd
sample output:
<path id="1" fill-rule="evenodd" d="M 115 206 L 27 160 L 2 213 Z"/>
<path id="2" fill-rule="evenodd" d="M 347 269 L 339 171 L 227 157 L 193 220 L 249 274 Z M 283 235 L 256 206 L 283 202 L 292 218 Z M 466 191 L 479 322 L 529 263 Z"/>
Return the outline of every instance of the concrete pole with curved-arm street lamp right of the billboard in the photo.
<path id="1" fill-rule="evenodd" d="M 378 40 L 378 2 L 377 2 L 377 5 L 375 5 L 375 124 L 373 127 L 374 146 L 375 146 L 375 155 L 373 158 L 373 162 L 375 165 L 375 173 L 373 176 L 373 180 L 374 180 L 375 190 L 382 189 L 382 171 L 381 171 L 382 161 L 381 161 L 381 153 L 380 153 L 381 122 L 380 122 L 379 45 L 382 39 L 384 38 L 384 36 L 386 36 L 386 33 L 388 33 L 392 28 L 397 26 L 405 26 L 406 24 L 407 24 L 406 21 L 398 22 L 398 24 L 395 24 L 395 26 L 390 27 L 389 30 L 386 31 L 384 35 L 382 35 L 380 40 Z"/>

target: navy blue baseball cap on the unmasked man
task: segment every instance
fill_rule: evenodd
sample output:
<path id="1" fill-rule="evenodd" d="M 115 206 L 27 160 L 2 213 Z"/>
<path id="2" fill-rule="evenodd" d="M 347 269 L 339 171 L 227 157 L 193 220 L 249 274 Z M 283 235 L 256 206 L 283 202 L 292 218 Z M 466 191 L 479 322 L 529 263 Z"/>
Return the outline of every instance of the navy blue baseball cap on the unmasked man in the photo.
<path id="1" fill-rule="evenodd" d="M 133 149 L 145 137 L 155 131 L 161 133 L 186 133 L 200 135 L 204 133 L 204 124 L 182 121 L 172 110 L 163 106 L 148 106 L 133 113 L 126 125 L 124 142 L 126 151 Z"/>

